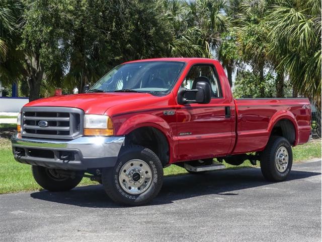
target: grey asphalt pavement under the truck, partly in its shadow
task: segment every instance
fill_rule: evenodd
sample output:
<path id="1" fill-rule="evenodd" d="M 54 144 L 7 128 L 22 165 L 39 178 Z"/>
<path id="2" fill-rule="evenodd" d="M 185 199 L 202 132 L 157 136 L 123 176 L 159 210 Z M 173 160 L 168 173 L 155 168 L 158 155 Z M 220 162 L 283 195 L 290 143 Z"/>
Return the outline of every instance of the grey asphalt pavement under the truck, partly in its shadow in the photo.
<path id="1" fill-rule="evenodd" d="M 257 168 L 165 177 L 141 207 L 101 185 L 0 195 L 0 241 L 321 241 L 321 161 L 281 183 Z"/>

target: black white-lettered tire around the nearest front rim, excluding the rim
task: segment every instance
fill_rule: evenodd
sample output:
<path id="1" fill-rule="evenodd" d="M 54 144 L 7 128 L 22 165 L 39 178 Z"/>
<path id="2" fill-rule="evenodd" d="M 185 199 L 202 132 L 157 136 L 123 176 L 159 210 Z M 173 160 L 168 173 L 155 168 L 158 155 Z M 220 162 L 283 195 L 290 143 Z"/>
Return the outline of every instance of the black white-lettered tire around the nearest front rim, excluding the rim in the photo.
<path id="1" fill-rule="evenodd" d="M 127 193 L 119 181 L 122 166 L 128 161 L 139 159 L 144 161 L 151 169 L 151 184 L 141 194 Z M 116 203 L 127 206 L 139 206 L 149 203 L 160 191 L 163 184 L 163 166 L 157 155 L 148 148 L 130 145 L 122 148 L 114 167 L 104 168 L 102 184 L 106 194 Z"/>

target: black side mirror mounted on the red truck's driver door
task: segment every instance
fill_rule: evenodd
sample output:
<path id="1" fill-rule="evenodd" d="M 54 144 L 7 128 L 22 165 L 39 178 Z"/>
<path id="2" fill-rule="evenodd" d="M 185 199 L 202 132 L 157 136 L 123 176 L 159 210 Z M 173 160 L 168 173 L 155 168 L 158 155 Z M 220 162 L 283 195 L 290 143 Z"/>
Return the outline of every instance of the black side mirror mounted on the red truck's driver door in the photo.
<path id="1" fill-rule="evenodd" d="M 195 99 L 187 99 L 185 93 L 192 92 L 195 94 Z M 211 99 L 211 87 L 207 82 L 197 82 L 196 89 L 180 88 L 178 92 L 178 103 L 186 104 L 187 102 L 209 103 Z"/>

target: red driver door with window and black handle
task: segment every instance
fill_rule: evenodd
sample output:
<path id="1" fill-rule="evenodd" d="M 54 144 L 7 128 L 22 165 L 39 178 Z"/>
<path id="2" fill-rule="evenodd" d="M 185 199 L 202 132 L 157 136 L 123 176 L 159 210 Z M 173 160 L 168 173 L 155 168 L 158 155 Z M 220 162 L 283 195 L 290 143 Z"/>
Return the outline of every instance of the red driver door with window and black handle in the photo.
<path id="1" fill-rule="evenodd" d="M 225 109 L 230 102 L 222 95 L 215 67 L 197 64 L 191 67 L 182 87 L 191 89 L 198 77 L 207 77 L 211 101 L 207 104 L 187 103 L 177 109 L 179 159 L 181 161 L 218 157 L 227 154 L 233 132 L 233 120 Z"/>

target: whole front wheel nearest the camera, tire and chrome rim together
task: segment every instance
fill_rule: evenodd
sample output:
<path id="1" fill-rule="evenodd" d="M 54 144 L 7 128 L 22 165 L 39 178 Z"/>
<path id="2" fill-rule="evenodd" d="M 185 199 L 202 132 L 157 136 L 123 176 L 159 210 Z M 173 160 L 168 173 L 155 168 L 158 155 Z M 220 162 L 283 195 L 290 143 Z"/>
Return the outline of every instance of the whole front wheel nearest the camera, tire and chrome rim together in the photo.
<path id="1" fill-rule="evenodd" d="M 125 147 L 115 166 L 103 169 L 102 183 L 114 202 L 142 205 L 159 193 L 163 184 L 163 166 L 150 149 L 142 146 Z"/>

